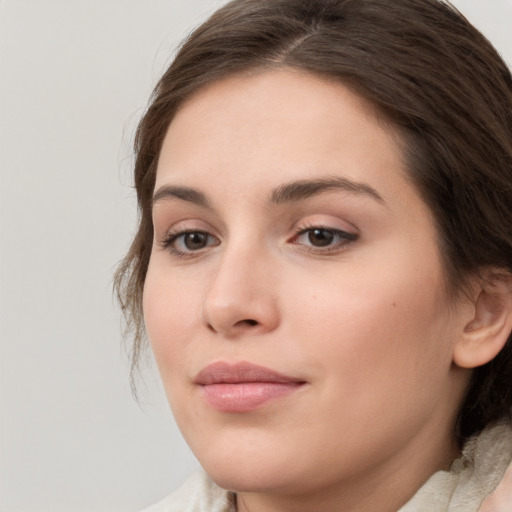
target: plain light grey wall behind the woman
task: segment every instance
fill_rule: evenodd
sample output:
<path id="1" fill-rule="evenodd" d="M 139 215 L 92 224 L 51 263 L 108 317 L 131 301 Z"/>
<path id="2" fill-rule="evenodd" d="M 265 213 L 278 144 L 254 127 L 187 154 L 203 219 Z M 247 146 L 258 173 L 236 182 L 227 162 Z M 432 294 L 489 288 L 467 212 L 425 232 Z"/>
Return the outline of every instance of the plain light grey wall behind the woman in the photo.
<path id="1" fill-rule="evenodd" d="M 391 1 L 391 0 L 390 0 Z M 223 0 L 0 0 L 0 511 L 135 512 L 197 467 L 111 281 L 134 127 Z M 512 62 L 512 0 L 454 2 Z"/>

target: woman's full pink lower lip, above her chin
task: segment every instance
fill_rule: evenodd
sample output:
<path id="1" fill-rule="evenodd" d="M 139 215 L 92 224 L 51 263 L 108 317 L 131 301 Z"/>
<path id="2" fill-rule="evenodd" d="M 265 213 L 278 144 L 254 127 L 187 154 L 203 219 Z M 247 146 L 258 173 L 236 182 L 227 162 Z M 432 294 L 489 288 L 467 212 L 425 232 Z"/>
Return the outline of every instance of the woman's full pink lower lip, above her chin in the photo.
<path id="1" fill-rule="evenodd" d="M 241 382 L 203 386 L 206 402 L 221 412 L 249 412 L 303 386 L 300 382 Z"/>

